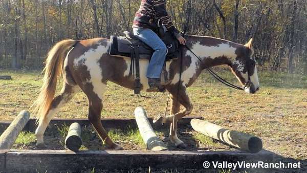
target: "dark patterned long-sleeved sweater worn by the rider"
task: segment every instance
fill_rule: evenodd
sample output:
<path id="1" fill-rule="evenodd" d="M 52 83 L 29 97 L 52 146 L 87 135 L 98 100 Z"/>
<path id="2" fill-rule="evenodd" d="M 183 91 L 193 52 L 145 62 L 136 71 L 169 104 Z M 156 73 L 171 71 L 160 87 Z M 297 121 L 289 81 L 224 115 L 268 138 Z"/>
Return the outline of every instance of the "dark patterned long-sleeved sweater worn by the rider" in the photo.
<path id="1" fill-rule="evenodd" d="M 140 9 L 136 12 L 133 28 L 156 29 L 158 19 L 169 32 L 179 31 L 174 27 L 166 9 L 166 0 L 142 0 Z"/>

